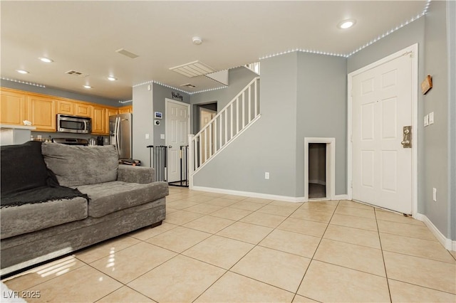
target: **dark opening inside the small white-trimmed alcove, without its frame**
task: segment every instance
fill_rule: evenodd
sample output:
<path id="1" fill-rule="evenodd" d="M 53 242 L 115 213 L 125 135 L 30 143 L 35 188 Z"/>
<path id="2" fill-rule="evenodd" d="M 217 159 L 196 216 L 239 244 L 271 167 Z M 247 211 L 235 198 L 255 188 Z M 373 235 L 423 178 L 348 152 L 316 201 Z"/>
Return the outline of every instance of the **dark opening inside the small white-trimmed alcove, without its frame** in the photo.
<path id="1" fill-rule="evenodd" d="M 326 143 L 309 144 L 309 199 L 326 198 Z"/>

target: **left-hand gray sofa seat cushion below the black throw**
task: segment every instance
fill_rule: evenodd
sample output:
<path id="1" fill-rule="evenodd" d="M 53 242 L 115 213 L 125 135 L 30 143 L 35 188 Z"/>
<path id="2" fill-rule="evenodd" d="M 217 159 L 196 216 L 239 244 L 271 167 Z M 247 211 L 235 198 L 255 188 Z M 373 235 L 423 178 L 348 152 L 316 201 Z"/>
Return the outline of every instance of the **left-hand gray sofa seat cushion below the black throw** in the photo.
<path id="1" fill-rule="evenodd" d="M 1 239 L 83 220 L 87 216 L 87 200 L 82 197 L 1 208 Z"/>

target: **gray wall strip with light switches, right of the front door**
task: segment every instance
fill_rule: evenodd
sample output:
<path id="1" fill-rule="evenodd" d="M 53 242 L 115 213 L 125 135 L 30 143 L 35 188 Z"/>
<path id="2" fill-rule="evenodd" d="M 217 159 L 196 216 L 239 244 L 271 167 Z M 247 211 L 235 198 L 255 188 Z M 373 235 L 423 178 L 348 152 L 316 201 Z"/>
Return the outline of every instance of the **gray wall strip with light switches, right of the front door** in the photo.
<path id="1" fill-rule="evenodd" d="M 434 112 L 434 124 L 425 127 L 424 196 L 425 215 L 449 236 L 448 197 L 448 61 L 446 3 L 432 1 L 425 24 L 425 75 L 432 75 L 432 89 L 424 96 L 424 113 Z M 454 85 L 454 83 L 453 83 Z M 432 188 L 437 188 L 437 202 L 432 201 Z"/>

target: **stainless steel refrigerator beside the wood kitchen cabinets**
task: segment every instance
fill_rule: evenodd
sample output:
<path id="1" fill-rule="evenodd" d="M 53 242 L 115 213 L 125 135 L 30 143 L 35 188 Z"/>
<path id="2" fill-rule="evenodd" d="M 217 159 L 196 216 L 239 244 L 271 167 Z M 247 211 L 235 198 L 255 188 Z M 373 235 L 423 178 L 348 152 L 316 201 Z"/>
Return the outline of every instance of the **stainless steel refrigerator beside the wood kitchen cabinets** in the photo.
<path id="1" fill-rule="evenodd" d="M 119 159 L 132 159 L 133 115 L 119 114 L 109 117 L 110 144 L 115 145 Z"/>

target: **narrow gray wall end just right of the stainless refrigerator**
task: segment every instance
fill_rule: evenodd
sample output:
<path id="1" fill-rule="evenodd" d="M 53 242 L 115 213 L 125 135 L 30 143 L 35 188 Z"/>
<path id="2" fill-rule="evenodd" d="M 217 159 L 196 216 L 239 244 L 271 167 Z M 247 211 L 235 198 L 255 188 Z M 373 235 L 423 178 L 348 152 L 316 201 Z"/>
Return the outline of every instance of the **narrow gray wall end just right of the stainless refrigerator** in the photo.
<path id="1" fill-rule="evenodd" d="M 150 166 L 147 146 L 154 144 L 153 115 L 153 85 L 133 87 L 133 159 L 140 160 L 142 166 Z M 145 139 L 146 134 L 149 139 Z"/>

